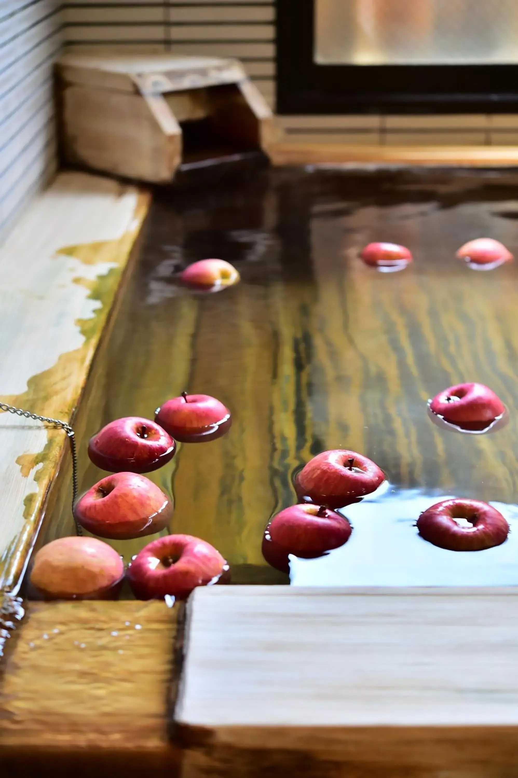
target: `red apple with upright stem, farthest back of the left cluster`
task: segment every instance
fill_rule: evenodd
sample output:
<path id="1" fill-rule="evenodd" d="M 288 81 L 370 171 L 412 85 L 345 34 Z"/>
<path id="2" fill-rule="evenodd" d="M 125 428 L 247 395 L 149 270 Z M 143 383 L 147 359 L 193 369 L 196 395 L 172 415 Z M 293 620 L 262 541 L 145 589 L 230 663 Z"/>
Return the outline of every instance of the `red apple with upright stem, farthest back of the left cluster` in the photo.
<path id="1" fill-rule="evenodd" d="M 174 397 L 157 408 L 155 421 L 181 443 L 203 443 L 224 435 L 231 427 L 231 412 L 209 394 Z"/>

